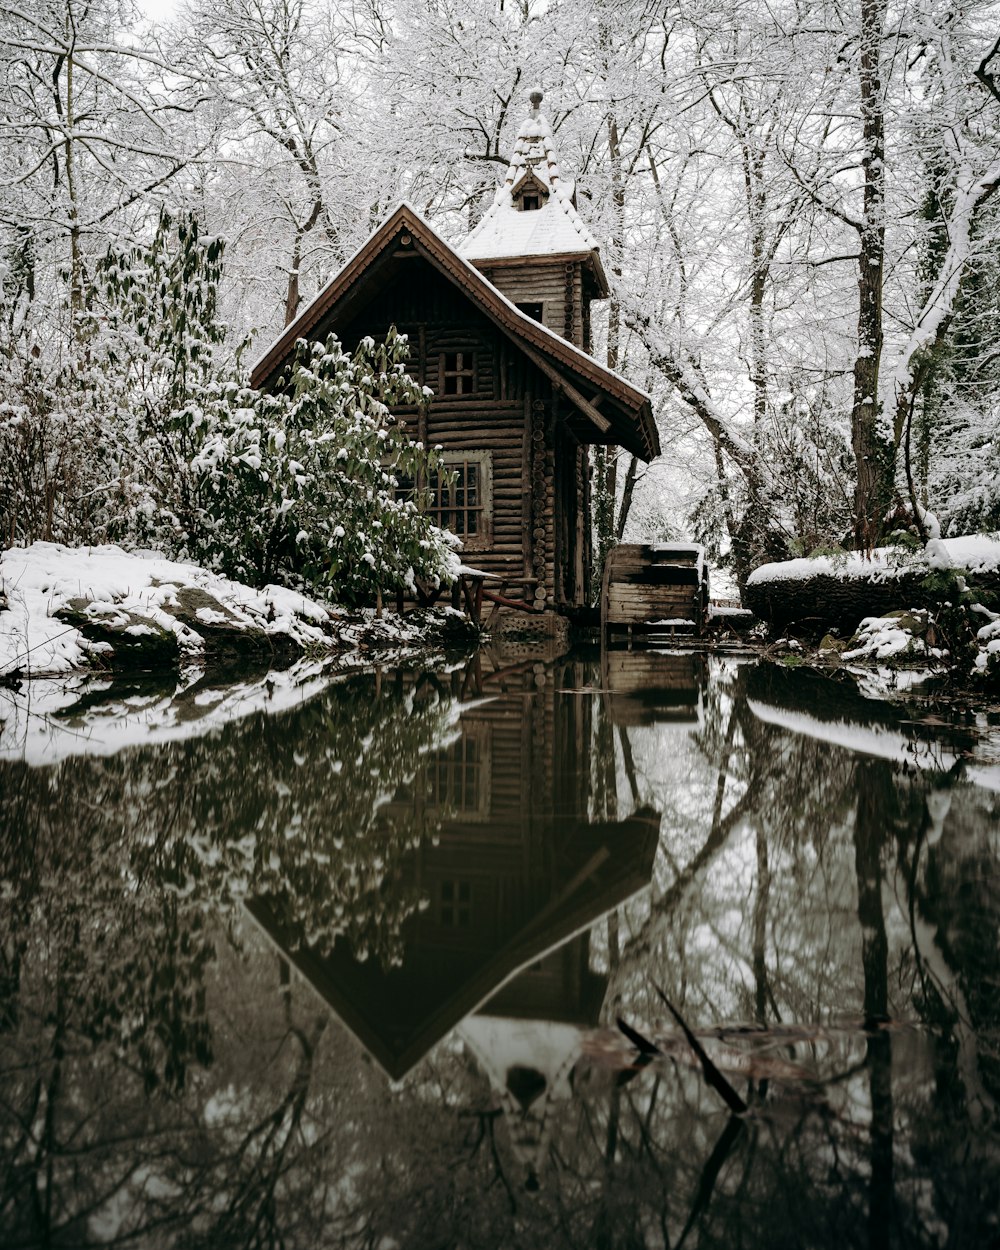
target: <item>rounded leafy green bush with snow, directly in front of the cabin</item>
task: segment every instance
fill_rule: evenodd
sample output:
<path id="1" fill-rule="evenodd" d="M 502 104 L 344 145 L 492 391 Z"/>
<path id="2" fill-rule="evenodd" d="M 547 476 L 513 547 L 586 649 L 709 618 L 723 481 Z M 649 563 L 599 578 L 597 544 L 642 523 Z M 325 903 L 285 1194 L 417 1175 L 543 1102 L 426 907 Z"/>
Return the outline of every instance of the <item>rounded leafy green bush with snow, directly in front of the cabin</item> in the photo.
<path id="1" fill-rule="evenodd" d="M 178 414 L 189 462 L 186 554 L 255 585 L 282 581 L 340 601 L 454 576 L 454 540 L 415 482 L 444 471 L 390 408 L 426 402 L 406 340 L 300 340 L 274 394 L 229 386 Z"/>

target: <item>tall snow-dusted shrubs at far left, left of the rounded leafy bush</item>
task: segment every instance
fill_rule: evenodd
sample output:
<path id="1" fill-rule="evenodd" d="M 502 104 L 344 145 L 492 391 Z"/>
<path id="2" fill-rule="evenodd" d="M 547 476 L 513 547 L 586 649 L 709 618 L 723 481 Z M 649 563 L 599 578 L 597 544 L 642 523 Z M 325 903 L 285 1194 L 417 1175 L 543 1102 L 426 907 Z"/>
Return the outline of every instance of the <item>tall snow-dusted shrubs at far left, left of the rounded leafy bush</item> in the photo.
<path id="1" fill-rule="evenodd" d="M 194 216 L 161 211 L 148 241 L 88 265 L 85 309 L 66 304 L 59 281 L 30 295 L 0 284 L 4 545 L 149 545 L 178 532 L 162 511 L 188 479 L 174 412 L 234 369 L 221 258 Z"/>

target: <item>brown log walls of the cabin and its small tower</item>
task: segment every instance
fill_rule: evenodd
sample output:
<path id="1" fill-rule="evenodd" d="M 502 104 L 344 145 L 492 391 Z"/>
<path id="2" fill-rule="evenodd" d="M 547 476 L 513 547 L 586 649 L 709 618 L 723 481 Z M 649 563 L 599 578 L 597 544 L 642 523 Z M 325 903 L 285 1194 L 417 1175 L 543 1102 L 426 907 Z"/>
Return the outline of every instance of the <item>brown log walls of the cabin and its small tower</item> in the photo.
<path id="1" fill-rule="evenodd" d="M 485 541 L 466 544 L 465 562 L 502 578 L 515 598 L 524 594 L 535 606 L 584 602 L 589 464 L 586 449 L 560 419 L 550 380 L 430 266 L 409 262 L 402 272 L 408 281 L 386 286 L 356 312 L 341 328 L 341 341 L 352 349 L 395 325 L 410 340 L 409 372 L 435 391 L 426 409 L 400 410 L 399 419 L 430 446 L 489 452 L 491 525 Z M 541 275 L 535 266 L 504 272 L 511 275 L 510 298 L 541 299 L 551 329 L 569 326 L 582 339 L 579 262 L 550 265 Z M 468 394 L 444 395 L 440 361 L 458 351 L 475 354 L 474 385 Z M 562 410 L 569 416 L 565 401 Z"/>

